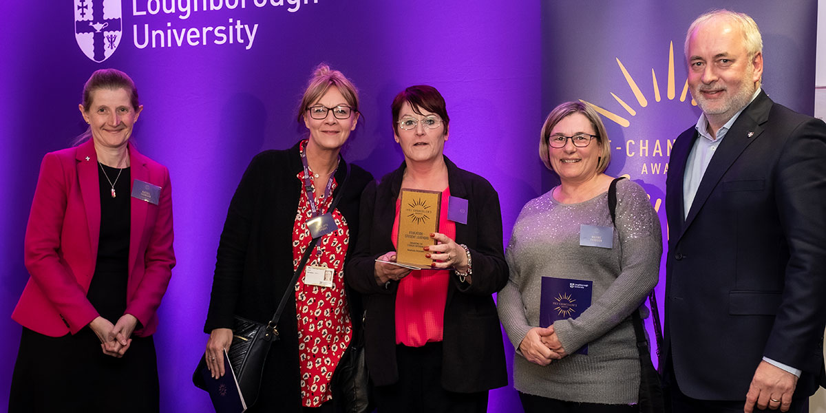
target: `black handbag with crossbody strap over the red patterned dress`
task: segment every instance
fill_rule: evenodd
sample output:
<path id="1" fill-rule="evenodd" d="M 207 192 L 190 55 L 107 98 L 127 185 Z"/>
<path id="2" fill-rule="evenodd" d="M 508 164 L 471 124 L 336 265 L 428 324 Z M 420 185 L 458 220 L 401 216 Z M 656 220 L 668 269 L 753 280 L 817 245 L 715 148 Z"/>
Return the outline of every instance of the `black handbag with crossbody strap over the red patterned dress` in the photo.
<path id="1" fill-rule="evenodd" d="M 347 181 L 350 176 L 350 165 L 346 164 L 347 171 L 344 175 L 344 182 L 341 183 L 339 194 L 333 199 L 329 211 L 334 211 L 335 207 L 339 205 L 341 197 L 344 195 L 344 188 L 347 187 Z M 290 296 L 295 293 L 291 286 L 298 281 L 298 276 L 304 269 L 306 262 L 310 259 L 312 250 L 316 248 L 316 244 L 320 237 L 314 238 L 307 245 L 304 255 L 301 257 L 301 262 L 298 263 L 295 273 L 292 274 L 292 281 L 287 283 L 287 288 L 284 291 L 281 301 L 278 302 L 278 309 L 275 311 L 273 318 L 267 324 L 259 323 L 254 320 L 247 320 L 240 316 L 233 317 L 232 328 L 232 343 L 230 349 L 227 350 L 230 365 L 232 366 L 232 373 L 235 373 L 235 379 L 240 387 L 241 395 L 244 396 L 246 406 L 253 406 L 258 400 L 259 388 L 261 387 L 261 376 L 263 374 L 263 365 L 267 360 L 267 354 L 271 344 L 278 341 L 278 320 L 281 318 L 281 313 L 284 311 L 284 306 Z M 204 354 L 201 362 L 195 368 L 195 373 L 192 373 L 192 382 L 196 387 L 207 390 L 202 382 L 203 369 L 207 368 L 207 358 Z"/>

